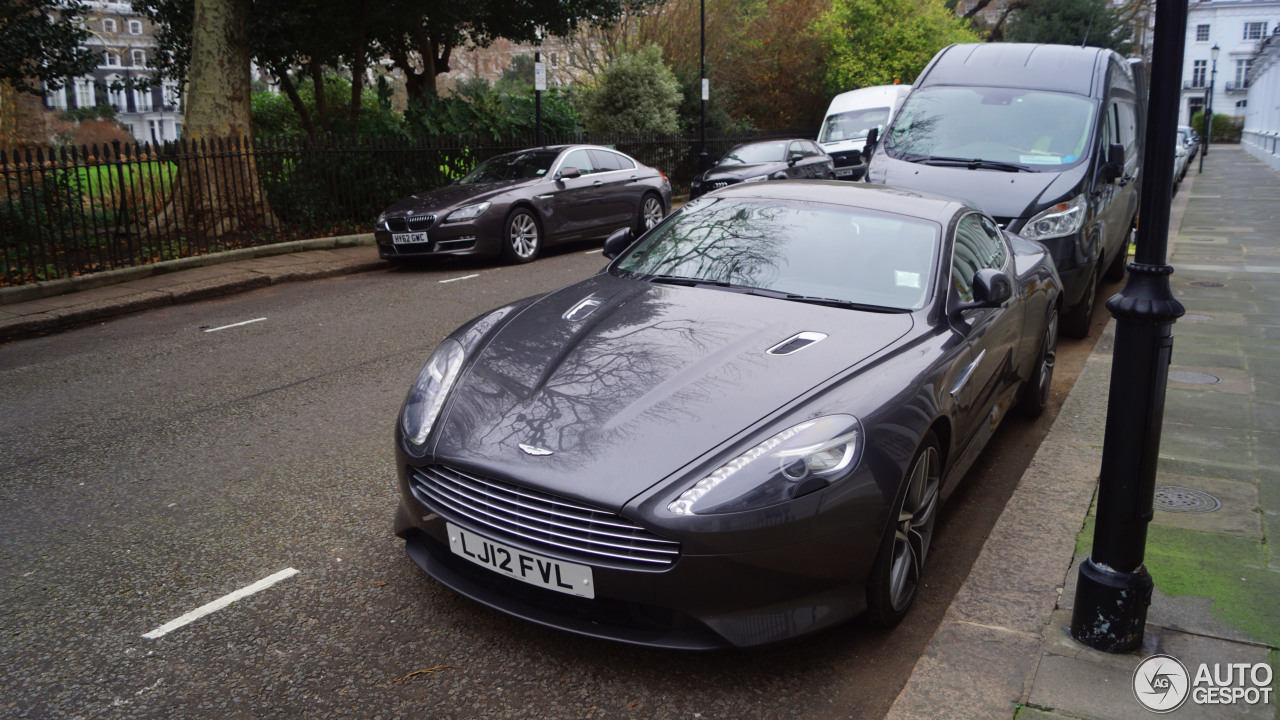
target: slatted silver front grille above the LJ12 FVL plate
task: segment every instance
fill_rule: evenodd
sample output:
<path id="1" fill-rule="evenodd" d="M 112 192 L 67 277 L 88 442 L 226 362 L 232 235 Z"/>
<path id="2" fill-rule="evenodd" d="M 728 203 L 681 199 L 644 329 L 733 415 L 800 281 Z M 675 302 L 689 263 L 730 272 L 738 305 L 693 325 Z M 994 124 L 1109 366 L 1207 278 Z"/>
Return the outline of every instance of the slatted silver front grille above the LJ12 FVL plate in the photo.
<path id="1" fill-rule="evenodd" d="M 447 519 L 467 520 L 481 534 L 535 552 L 590 565 L 660 570 L 680 557 L 680 543 L 660 538 L 616 512 L 463 473 L 445 465 L 410 468 L 419 502 Z"/>

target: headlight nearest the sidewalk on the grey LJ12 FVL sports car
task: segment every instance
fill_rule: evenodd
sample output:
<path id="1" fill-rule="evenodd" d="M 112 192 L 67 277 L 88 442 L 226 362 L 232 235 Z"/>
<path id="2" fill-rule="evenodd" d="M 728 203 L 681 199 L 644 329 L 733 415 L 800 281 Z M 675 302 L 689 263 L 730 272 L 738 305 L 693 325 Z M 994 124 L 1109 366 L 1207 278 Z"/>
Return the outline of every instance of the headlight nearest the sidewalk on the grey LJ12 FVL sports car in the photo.
<path id="1" fill-rule="evenodd" d="M 858 464 L 863 445 L 863 425 L 852 415 L 808 420 L 721 465 L 667 510 L 709 515 L 786 502 L 842 477 Z"/>

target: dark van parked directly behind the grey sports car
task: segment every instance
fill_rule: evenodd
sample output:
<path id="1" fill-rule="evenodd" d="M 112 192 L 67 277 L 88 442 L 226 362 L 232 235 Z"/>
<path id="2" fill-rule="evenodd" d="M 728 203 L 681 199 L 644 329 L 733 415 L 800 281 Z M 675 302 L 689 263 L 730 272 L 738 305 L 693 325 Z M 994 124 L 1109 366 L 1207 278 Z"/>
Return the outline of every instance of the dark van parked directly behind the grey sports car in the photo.
<path id="1" fill-rule="evenodd" d="M 1138 217 L 1146 72 L 1111 50 L 969 44 L 916 78 L 869 182 L 951 195 L 1042 242 L 1062 277 L 1062 332 L 1089 332 L 1098 281 L 1124 277 Z"/>

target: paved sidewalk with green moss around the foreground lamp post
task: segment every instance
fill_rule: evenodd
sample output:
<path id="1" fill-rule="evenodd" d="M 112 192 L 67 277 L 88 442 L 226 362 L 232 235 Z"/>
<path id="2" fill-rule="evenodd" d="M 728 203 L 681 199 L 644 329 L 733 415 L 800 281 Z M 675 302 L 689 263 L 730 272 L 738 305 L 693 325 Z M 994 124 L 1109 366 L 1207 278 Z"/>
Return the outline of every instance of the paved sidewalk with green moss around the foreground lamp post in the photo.
<path id="1" fill-rule="evenodd" d="M 888 717 L 1152 716 L 1135 683 L 1158 703 L 1152 682 L 1167 667 L 1135 670 L 1153 655 L 1189 674 L 1166 693 L 1187 696 L 1172 717 L 1280 717 L 1280 174 L 1238 146 L 1213 146 L 1194 173 L 1170 223 L 1187 315 L 1174 325 L 1142 650 L 1097 652 L 1068 633 L 1093 538 L 1112 322 Z M 1226 664 L 1256 676 L 1228 683 Z M 1215 671 L 1224 687 L 1270 688 L 1197 702 L 1222 697 L 1201 675 Z"/>

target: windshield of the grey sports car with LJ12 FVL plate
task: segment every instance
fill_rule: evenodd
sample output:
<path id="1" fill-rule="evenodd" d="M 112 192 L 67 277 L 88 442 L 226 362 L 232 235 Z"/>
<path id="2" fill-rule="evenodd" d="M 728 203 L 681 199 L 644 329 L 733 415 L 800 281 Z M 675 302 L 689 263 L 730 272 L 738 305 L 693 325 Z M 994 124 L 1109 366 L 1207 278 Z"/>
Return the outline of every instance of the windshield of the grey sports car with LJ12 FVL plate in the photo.
<path id="1" fill-rule="evenodd" d="M 916 310 L 932 287 L 938 232 L 927 220 L 858 208 L 705 197 L 614 269 Z"/>

